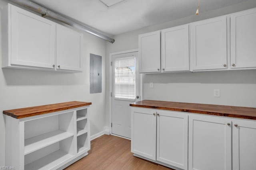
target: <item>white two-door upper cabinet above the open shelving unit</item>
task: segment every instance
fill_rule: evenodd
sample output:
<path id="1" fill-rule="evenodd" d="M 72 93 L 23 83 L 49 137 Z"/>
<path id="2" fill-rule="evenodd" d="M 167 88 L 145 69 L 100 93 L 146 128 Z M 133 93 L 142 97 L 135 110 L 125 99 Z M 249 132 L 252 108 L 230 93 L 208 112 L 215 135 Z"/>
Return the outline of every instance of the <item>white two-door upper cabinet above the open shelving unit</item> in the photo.
<path id="1" fill-rule="evenodd" d="M 3 68 L 82 72 L 82 33 L 11 4 L 1 14 Z"/>

